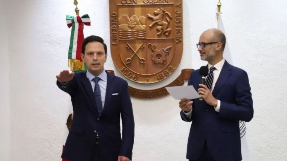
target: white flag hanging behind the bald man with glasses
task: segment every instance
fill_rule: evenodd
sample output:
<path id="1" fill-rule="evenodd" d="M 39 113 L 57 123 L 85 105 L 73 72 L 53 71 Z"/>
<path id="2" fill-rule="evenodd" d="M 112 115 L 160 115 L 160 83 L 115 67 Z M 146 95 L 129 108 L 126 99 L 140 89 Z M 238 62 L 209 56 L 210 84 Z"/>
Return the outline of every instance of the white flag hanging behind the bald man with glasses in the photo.
<path id="1" fill-rule="evenodd" d="M 223 21 L 222 21 L 222 17 L 221 17 L 221 13 L 216 13 L 216 15 L 218 15 L 216 28 L 221 30 L 226 36 L 225 30 L 224 30 Z M 228 61 L 229 64 L 233 64 L 227 40 L 226 40 L 223 56 L 224 56 L 225 60 Z M 248 146 L 248 143 L 247 143 L 245 121 L 239 121 L 239 129 L 240 129 L 240 137 L 241 137 L 242 161 L 248 161 L 249 160 L 250 151 L 249 151 L 249 146 Z"/>

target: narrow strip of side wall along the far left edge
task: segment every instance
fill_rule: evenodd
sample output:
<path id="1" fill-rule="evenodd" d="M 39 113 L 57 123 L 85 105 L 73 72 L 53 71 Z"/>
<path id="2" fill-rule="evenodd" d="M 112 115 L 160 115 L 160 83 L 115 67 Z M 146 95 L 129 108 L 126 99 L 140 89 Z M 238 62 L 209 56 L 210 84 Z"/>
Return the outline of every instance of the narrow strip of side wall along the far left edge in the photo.
<path id="1" fill-rule="evenodd" d="M 0 160 L 10 160 L 10 91 L 9 51 L 7 35 L 6 5 L 0 1 Z"/>

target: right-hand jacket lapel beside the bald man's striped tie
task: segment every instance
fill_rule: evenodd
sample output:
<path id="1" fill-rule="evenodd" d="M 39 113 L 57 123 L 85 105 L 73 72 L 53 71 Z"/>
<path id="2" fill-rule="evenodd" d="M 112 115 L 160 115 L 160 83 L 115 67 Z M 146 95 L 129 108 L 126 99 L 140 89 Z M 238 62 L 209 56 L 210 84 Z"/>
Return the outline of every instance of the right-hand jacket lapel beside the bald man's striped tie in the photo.
<path id="1" fill-rule="evenodd" d="M 213 92 L 212 92 L 212 95 L 214 97 L 216 97 L 216 95 L 218 94 L 222 86 L 225 84 L 225 82 L 229 78 L 231 74 L 230 70 L 231 70 L 231 65 L 227 61 L 225 61 L 225 63 L 222 66 L 221 72 L 219 74 L 218 80 L 215 83 Z"/>

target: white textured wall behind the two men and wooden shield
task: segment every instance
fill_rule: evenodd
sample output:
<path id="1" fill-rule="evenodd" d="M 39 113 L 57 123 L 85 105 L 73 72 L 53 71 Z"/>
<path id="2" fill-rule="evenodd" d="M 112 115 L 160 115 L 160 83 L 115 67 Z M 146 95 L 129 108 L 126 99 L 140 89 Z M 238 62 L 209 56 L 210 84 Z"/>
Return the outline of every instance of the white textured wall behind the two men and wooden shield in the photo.
<path id="1" fill-rule="evenodd" d="M 247 124 L 251 160 L 287 160 L 287 108 L 284 106 L 287 86 L 283 83 L 287 81 L 284 68 L 287 2 L 221 2 L 233 64 L 248 72 L 253 94 L 254 118 Z M 1 108 L 0 117 L 11 124 L 1 125 L 1 130 L 8 133 L 0 134 L 1 139 L 7 138 L 1 140 L 4 145 L 1 145 L 0 160 L 60 160 L 68 95 L 57 88 L 55 75 L 67 69 L 71 29 L 66 26 L 65 16 L 74 15 L 73 2 L 10 0 L 6 3 L 7 32 L 5 28 L 2 30 L 2 21 L 0 25 L 4 34 L 0 38 L 4 74 L 0 79 L 4 100 L 1 105 L 4 103 L 6 108 Z M 215 27 L 216 3 L 183 0 L 181 64 L 172 76 L 153 87 L 170 83 L 181 69 L 198 69 L 206 64 L 200 61 L 195 44 L 201 32 Z M 88 13 L 91 17 L 92 26 L 85 27 L 85 35 L 103 37 L 110 53 L 109 2 L 79 0 L 78 7 L 80 15 Z M 115 69 L 110 54 L 105 68 L 123 77 Z M 149 88 L 130 81 L 129 84 Z M 10 92 L 10 101 L 7 94 L 2 98 L 2 86 Z M 167 96 L 155 100 L 132 98 L 132 103 L 136 128 L 133 160 L 185 160 L 190 123 L 181 121 L 178 101 Z M 3 154 L 2 147 L 8 147 Z"/>

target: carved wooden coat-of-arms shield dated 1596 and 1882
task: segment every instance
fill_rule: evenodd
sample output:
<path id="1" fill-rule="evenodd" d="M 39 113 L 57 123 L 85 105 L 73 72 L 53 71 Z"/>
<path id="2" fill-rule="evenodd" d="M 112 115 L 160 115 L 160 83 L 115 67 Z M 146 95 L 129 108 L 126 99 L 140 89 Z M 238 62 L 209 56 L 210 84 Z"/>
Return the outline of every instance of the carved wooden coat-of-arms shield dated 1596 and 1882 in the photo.
<path id="1" fill-rule="evenodd" d="M 138 83 L 164 80 L 182 56 L 182 0 L 110 0 L 111 54 Z"/>

